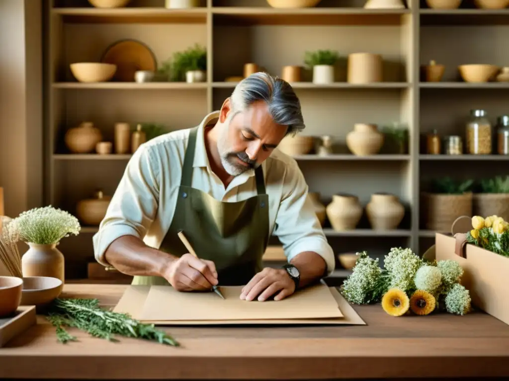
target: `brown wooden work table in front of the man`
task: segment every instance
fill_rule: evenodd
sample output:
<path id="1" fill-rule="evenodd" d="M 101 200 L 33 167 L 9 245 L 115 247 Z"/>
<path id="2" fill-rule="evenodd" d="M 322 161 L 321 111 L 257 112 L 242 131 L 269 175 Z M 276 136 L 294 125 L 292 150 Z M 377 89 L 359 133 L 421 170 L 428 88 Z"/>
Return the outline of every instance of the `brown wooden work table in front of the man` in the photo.
<path id="1" fill-rule="evenodd" d="M 115 305 L 125 285 L 66 284 L 62 297 Z M 71 330 L 61 344 L 43 316 L 0 348 L 2 378 L 334 379 L 509 376 L 509 326 L 473 312 L 392 317 L 354 306 L 367 326 L 184 328 L 181 347 Z"/>

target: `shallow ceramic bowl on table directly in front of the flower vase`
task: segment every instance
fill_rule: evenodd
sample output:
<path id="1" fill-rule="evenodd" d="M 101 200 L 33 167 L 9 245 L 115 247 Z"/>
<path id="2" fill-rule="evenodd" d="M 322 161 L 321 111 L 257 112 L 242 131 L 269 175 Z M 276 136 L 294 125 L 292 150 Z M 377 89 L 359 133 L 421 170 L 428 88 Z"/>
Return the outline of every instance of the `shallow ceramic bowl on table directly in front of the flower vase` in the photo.
<path id="1" fill-rule="evenodd" d="M 58 298 L 64 283 L 50 276 L 25 276 L 21 291 L 21 305 L 44 307 Z"/>

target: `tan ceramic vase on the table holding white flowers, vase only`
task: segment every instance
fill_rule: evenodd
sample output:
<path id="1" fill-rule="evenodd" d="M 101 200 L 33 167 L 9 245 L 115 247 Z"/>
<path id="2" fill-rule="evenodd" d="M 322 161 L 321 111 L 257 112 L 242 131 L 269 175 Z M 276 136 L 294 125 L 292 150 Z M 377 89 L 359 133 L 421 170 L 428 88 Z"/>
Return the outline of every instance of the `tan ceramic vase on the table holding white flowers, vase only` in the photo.
<path id="1" fill-rule="evenodd" d="M 57 243 L 28 245 L 30 248 L 21 257 L 23 276 L 50 276 L 64 282 L 64 255 L 56 248 Z"/>

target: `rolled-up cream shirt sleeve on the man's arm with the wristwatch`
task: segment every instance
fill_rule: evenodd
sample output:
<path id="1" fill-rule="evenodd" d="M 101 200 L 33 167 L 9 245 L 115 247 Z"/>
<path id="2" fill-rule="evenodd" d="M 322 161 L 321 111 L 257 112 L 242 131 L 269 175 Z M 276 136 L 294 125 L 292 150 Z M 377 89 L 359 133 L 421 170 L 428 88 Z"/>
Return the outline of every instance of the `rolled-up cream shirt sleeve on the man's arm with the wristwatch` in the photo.
<path id="1" fill-rule="evenodd" d="M 324 259 L 330 275 L 335 268 L 334 252 L 307 197 L 308 186 L 295 161 L 287 165 L 283 181 L 273 234 L 282 243 L 288 262 L 301 252 L 314 251 Z"/>

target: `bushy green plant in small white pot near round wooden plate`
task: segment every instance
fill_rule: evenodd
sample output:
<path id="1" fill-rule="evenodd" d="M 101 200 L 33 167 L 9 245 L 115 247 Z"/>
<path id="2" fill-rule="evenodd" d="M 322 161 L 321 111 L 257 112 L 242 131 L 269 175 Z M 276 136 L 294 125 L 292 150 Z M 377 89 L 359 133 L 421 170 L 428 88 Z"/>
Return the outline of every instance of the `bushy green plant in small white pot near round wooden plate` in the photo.
<path id="1" fill-rule="evenodd" d="M 207 80 L 207 50 L 196 44 L 187 50 L 176 52 L 171 63 L 172 81 L 187 83 Z"/>

